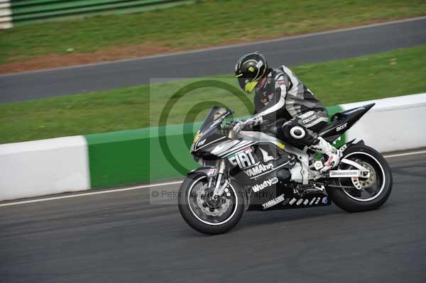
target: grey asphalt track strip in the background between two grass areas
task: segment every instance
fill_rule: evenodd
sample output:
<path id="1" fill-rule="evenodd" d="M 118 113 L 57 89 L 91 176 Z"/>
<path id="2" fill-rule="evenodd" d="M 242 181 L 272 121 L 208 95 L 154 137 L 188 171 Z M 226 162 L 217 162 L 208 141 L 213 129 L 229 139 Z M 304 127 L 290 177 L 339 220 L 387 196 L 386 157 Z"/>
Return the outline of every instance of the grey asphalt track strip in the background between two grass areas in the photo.
<path id="1" fill-rule="evenodd" d="M 0 75 L 0 103 L 148 84 L 150 78 L 229 74 L 241 55 L 261 51 L 270 65 L 300 65 L 426 44 L 426 18 L 175 55 Z"/>

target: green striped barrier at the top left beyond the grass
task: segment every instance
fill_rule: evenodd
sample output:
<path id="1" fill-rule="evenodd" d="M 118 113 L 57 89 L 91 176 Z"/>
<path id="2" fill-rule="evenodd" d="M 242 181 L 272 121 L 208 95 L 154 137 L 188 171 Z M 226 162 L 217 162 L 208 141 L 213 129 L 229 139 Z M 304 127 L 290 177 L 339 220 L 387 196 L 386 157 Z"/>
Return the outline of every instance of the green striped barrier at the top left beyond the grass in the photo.
<path id="1" fill-rule="evenodd" d="M 0 0 L 0 28 L 100 13 L 136 13 L 192 3 L 194 1 L 189 0 Z"/>

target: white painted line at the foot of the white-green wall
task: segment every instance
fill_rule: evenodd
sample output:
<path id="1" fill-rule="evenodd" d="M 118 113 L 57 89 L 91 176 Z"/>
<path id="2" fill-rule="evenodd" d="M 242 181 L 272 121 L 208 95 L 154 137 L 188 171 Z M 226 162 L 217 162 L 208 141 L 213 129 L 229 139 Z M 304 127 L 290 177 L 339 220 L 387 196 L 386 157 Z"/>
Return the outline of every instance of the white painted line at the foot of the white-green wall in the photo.
<path id="1" fill-rule="evenodd" d="M 420 151 L 415 151 L 415 152 L 397 153 L 397 154 L 393 154 L 393 155 L 383 155 L 383 157 L 391 158 L 391 157 L 400 157 L 400 156 L 408 156 L 408 155 L 417 155 L 417 154 L 422 154 L 422 153 L 426 153 L 426 150 L 420 150 Z M 77 196 L 91 196 L 93 194 L 107 194 L 107 193 L 114 193 L 114 192 L 132 191 L 134 189 L 146 189 L 146 188 L 149 188 L 149 187 L 168 186 L 170 184 L 182 184 L 182 182 L 183 182 L 183 180 L 182 181 L 175 181 L 175 182 L 158 183 L 158 184 L 144 184 L 144 185 L 141 185 L 141 186 L 128 187 L 128 188 L 124 188 L 124 189 L 109 189 L 107 191 L 101 191 L 101 192 L 71 194 L 69 196 L 53 196 L 53 197 L 48 197 L 48 198 L 44 198 L 44 199 L 31 199 L 29 201 L 15 201 L 15 202 L 7 203 L 7 204 L 0 204 L 0 207 L 1 206 L 16 206 L 18 204 L 31 204 L 33 202 L 41 202 L 41 201 L 53 201 L 55 199 L 69 199 L 71 197 L 77 197 Z"/>

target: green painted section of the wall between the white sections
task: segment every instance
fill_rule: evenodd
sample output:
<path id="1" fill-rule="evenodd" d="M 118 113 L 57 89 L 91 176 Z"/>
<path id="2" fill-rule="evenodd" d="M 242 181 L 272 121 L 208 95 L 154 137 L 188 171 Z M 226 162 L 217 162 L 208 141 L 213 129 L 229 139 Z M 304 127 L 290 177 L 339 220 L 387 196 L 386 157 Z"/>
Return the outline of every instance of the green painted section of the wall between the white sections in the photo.
<path id="1" fill-rule="evenodd" d="M 342 111 L 340 106 L 327 109 L 330 117 Z M 201 123 L 165 127 L 166 135 L 163 137 L 167 140 L 170 154 L 178 160 L 180 170 L 176 170 L 178 167 L 168 160 L 167 153 L 163 153 L 159 128 L 85 135 L 89 149 L 91 187 L 116 187 L 185 177 L 187 171 L 198 166 L 189 148 L 200 126 Z M 344 143 L 343 136 L 336 146 Z"/>

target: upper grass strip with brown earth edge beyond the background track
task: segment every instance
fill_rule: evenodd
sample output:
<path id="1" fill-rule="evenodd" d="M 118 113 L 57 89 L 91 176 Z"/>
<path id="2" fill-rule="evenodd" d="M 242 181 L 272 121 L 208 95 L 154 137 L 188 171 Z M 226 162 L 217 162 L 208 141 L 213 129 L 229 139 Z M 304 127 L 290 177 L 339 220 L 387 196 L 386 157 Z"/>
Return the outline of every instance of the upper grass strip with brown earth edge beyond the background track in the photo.
<path id="1" fill-rule="evenodd" d="M 117 45 L 197 48 L 426 14 L 425 0 L 197 1 L 190 6 L 0 30 L 0 63 Z"/>

